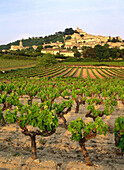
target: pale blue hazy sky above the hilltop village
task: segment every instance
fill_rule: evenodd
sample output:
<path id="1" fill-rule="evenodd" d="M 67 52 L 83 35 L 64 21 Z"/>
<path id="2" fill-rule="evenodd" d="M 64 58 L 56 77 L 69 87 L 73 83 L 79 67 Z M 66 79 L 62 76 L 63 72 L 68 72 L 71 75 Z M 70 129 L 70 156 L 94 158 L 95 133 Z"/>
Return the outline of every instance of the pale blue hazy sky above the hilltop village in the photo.
<path id="1" fill-rule="evenodd" d="M 77 26 L 124 39 L 124 0 L 0 0 L 0 45 Z"/>

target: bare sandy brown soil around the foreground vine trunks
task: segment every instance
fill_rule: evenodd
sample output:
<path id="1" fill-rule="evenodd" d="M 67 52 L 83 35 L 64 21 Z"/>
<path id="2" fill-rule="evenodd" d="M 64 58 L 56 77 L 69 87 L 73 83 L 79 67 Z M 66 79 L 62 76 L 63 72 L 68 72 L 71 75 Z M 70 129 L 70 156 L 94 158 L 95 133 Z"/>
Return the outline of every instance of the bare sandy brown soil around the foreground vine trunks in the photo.
<path id="1" fill-rule="evenodd" d="M 98 106 L 102 109 L 102 106 Z M 75 104 L 65 117 L 67 123 L 82 117 L 83 121 L 92 121 L 86 118 L 86 106 L 81 106 L 79 113 L 75 113 Z M 118 102 L 111 116 L 103 120 L 114 127 L 115 118 L 124 115 L 124 105 Z M 71 133 L 63 128 L 59 120 L 59 127 L 50 137 L 37 136 L 38 159 L 33 161 L 30 151 L 30 139 L 23 135 L 15 124 L 0 127 L 0 168 L 7 170 L 123 170 L 124 156 L 116 155 L 118 148 L 114 144 L 113 132 L 106 136 L 97 135 L 86 143 L 93 167 L 85 164 L 78 142 L 70 140 Z M 29 126 L 30 129 L 32 129 Z"/>

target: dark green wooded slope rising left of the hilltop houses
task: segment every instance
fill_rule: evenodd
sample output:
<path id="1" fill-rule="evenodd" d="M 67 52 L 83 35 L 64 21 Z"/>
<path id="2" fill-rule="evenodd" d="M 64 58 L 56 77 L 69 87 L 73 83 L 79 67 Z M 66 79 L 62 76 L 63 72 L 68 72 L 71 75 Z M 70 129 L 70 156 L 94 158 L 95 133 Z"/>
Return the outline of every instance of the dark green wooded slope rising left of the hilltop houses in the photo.
<path id="1" fill-rule="evenodd" d="M 22 43 L 23 46 L 29 46 L 32 47 L 33 45 L 39 46 L 39 45 L 43 45 L 44 43 L 50 43 L 50 42 L 56 42 L 56 41 L 60 41 L 64 43 L 64 39 L 63 37 L 65 35 L 71 35 L 73 34 L 75 31 L 72 28 L 66 28 L 63 32 L 59 31 L 56 32 L 53 35 L 48 35 L 45 37 L 32 37 L 32 38 L 28 38 L 28 39 L 22 39 Z M 11 45 L 19 45 L 20 40 L 17 40 L 15 42 L 9 43 L 7 45 L 0 45 L 0 51 L 2 51 L 3 49 L 5 50 L 9 50 Z"/>

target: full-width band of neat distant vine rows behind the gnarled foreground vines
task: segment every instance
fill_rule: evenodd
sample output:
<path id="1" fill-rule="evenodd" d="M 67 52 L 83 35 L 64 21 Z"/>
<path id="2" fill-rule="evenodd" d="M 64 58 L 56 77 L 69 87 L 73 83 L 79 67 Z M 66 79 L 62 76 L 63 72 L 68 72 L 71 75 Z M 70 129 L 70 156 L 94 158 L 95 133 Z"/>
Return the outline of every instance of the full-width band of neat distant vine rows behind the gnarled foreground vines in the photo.
<path id="1" fill-rule="evenodd" d="M 124 79 L 123 67 L 79 67 L 79 66 L 54 66 L 49 69 L 40 67 L 32 67 L 25 69 L 17 69 L 0 73 L 0 79 L 8 79 L 13 77 L 76 77 L 89 79 L 105 79 L 120 78 Z"/>

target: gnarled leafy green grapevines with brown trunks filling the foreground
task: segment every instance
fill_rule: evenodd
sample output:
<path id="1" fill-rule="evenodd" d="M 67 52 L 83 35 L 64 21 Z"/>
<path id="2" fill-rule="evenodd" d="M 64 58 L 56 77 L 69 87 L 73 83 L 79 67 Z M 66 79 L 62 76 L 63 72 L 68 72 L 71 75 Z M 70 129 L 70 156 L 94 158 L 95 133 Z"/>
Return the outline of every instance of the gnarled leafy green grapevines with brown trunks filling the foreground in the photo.
<path id="1" fill-rule="evenodd" d="M 68 68 L 57 67 L 56 70 Z M 73 69 L 73 68 L 70 68 Z M 78 68 L 77 68 L 78 70 Z M 81 70 L 83 70 L 81 68 Z M 54 69 L 50 69 L 54 74 Z M 88 70 L 87 70 L 88 71 Z M 48 73 L 45 73 L 48 75 Z M 21 98 L 27 97 L 27 102 Z M 40 102 L 36 102 L 39 99 Z M 61 102 L 60 102 L 60 99 Z M 36 136 L 51 136 L 63 121 L 65 129 L 71 132 L 72 141 L 80 145 L 84 159 L 88 165 L 93 165 L 86 149 L 86 142 L 97 135 L 106 135 L 108 125 L 103 116 L 111 115 L 121 102 L 124 105 L 124 81 L 121 79 L 78 79 L 78 78 L 11 78 L 0 82 L 0 120 L 1 124 L 16 123 L 24 135 L 31 139 L 32 158 L 37 158 Z M 68 114 L 73 104 L 75 113 L 80 106 L 87 108 L 86 118 L 92 121 L 86 123 L 82 118 L 67 122 Z M 98 105 L 104 109 L 97 108 Z M 29 130 L 28 126 L 34 127 Z M 35 129 L 36 128 L 36 129 Z M 115 143 L 124 152 L 124 117 L 120 116 L 115 123 Z"/>

